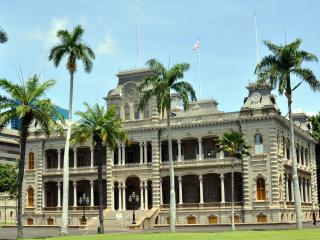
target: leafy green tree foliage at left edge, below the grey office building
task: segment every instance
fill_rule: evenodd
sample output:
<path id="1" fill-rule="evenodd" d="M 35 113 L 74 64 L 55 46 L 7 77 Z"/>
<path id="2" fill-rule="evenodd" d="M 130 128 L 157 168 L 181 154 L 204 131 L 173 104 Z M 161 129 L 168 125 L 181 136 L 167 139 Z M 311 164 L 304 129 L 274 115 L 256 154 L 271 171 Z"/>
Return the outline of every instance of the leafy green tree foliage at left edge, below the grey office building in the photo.
<path id="1" fill-rule="evenodd" d="M 16 166 L 0 163 L 0 192 L 8 192 L 11 197 L 18 193 L 18 174 Z"/>

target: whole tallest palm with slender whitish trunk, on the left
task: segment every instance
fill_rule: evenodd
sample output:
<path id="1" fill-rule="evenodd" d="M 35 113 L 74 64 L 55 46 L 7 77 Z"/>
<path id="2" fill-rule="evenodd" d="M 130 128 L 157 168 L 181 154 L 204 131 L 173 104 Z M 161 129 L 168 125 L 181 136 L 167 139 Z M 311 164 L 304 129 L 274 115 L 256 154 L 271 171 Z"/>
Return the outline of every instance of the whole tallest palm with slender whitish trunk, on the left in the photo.
<path id="1" fill-rule="evenodd" d="M 94 52 L 90 47 L 82 42 L 84 29 L 78 25 L 73 32 L 68 30 L 59 30 L 57 37 L 60 43 L 50 50 L 49 60 L 53 61 L 56 67 L 59 66 L 61 60 L 67 57 L 67 69 L 70 74 L 70 93 L 69 93 L 69 123 L 67 126 L 66 145 L 63 156 L 63 198 L 62 198 L 62 217 L 60 234 L 68 234 L 68 195 L 69 195 L 69 144 L 71 135 L 72 120 L 72 100 L 73 100 L 73 77 L 77 71 L 77 60 L 81 60 L 84 70 L 90 73 L 92 70 L 92 60 L 95 58 Z"/>

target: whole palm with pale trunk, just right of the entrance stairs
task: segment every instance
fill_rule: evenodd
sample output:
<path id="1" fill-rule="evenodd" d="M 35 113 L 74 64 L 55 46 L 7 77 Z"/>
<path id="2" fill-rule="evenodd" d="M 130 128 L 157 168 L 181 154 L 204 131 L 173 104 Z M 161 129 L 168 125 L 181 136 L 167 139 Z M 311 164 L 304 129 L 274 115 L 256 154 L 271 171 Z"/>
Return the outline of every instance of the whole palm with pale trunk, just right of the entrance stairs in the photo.
<path id="1" fill-rule="evenodd" d="M 167 113 L 168 151 L 169 151 L 169 174 L 170 174 L 170 230 L 175 231 L 176 223 L 176 196 L 174 188 L 174 169 L 172 158 L 171 140 L 171 99 L 170 91 L 175 91 L 183 102 L 184 110 L 189 106 L 189 99 L 196 100 L 196 94 L 191 84 L 185 81 L 178 81 L 183 78 L 184 72 L 189 70 L 188 63 L 179 63 L 170 69 L 166 69 L 159 61 L 150 59 L 147 66 L 153 71 L 153 75 L 146 77 L 139 85 L 142 93 L 139 109 L 143 110 L 152 97 L 156 98 L 158 112 L 162 115 Z"/>

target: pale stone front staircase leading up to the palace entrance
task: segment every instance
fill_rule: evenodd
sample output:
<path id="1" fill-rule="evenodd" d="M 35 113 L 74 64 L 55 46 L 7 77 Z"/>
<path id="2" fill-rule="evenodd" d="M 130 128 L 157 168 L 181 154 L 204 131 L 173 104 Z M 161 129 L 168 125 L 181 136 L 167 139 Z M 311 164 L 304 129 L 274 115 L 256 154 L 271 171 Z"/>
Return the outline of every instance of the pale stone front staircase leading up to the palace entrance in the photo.
<path id="1" fill-rule="evenodd" d="M 151 222 L 158 216 L 159 208 L 136 210 L 136 224 L 132 224 L 132 210 L 111 210 L 103 212 L 105 230 L 128 230 L 149 228 Z M 96 230 L 99 226 L 99 216 L 92 217 L 86 226 L 88 230 Z"/>

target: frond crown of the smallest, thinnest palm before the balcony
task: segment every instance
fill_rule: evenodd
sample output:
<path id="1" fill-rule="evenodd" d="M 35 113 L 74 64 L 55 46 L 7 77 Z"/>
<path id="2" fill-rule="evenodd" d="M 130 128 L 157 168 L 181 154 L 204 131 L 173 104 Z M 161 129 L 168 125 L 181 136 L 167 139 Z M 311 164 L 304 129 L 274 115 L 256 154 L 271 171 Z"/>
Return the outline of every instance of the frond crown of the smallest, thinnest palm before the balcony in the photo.
<path id="1" fill-rule="evenodd" d="M 250 156 L 243 134 L 236 131 L 225 132 L 218 140 L 219 148 L 216 152 L 227 152 L 231 157 L 242 159 L 243 155 Z"/>

